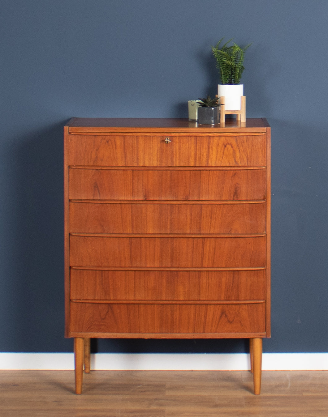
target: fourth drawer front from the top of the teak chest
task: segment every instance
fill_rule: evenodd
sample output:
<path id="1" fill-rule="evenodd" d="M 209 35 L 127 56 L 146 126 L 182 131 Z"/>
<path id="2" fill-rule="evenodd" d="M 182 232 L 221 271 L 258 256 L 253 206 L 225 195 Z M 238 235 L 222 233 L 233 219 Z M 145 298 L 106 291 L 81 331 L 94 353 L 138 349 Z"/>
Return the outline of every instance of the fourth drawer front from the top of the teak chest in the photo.
<path id="1" fill-rule="evenodd" d="M 264 267 L 265 236 L 70 237 L 71 266 Z"/>

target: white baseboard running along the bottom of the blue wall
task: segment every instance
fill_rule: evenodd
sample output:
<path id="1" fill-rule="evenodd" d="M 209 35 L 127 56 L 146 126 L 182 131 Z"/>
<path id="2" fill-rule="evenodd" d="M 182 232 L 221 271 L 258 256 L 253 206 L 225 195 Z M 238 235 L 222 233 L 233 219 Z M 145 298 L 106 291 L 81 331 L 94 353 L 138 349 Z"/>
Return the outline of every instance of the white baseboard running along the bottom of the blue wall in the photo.
<path id="1" fill-rule="evenodd" d="M 0 369 L 74 369 L 73 353 L 0 353 Z M 137 371 L 245 371 L 249 355 L 228 354 L 91 354 L 91 369 Z M 328 370 L 328 353 L 264 353 L 263 371 Z"/>

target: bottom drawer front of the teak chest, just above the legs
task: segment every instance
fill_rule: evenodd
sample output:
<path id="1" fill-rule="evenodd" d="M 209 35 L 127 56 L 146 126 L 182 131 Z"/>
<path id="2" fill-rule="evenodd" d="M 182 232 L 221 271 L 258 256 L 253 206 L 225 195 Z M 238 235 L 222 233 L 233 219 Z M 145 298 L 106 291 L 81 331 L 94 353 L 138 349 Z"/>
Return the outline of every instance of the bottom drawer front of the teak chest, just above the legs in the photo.
<path id="1" fill-rule="evenodd" d="M 71 302 L 71 332 L 263 333 L 265 303 L 156 305 Z"/>

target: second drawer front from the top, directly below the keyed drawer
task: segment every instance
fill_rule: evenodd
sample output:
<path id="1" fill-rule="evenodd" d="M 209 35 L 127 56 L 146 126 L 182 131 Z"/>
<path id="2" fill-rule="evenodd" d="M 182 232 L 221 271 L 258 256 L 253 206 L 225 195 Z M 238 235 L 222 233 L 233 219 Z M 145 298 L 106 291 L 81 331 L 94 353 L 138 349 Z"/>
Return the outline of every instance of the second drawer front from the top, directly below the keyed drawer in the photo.
<path id="1" fill-rule="evenodd" d="M 69 198 L 108 200 L 264 200 L 265 169 L 69 170 Z"/>

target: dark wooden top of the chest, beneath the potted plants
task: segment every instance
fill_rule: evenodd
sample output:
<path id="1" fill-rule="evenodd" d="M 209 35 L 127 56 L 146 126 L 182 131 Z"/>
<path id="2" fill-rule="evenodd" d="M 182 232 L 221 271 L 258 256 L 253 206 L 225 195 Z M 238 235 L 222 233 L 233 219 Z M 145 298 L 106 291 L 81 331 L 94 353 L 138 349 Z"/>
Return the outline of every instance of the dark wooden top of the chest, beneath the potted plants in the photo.
<path id="1" fill-rule="evenodd" d="M 269 127 L 265 118 L 248 118 L 246 123 L 235 119 L 227 119 L 223 126 L 220 124 L 199 125 L 194 121 L 182 118 L 72 118 L 67 125 L 68 131 L 167 131 L 189 133 L 219 133 L 240 130 L 247 132 L 265 132 Z"/>

